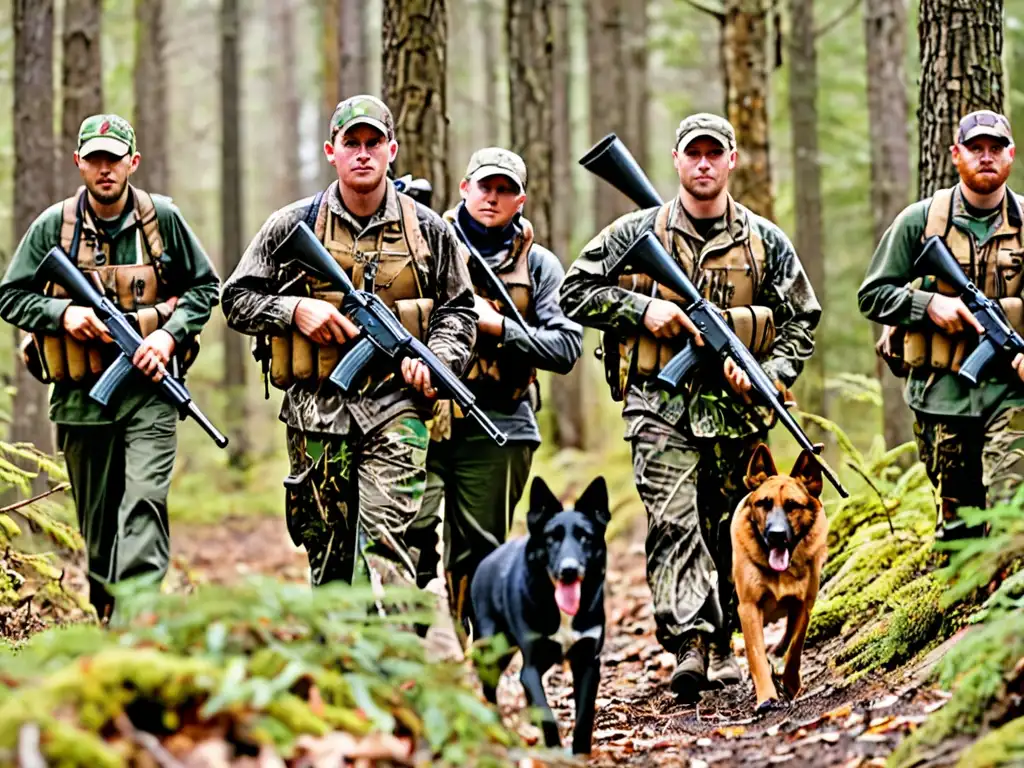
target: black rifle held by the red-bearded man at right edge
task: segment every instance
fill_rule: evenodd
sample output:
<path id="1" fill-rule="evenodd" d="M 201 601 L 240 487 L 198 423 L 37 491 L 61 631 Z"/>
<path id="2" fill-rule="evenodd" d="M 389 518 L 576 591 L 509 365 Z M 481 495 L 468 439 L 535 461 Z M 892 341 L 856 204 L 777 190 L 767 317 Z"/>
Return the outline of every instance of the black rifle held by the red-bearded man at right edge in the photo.
<path id="1" fill-rule="evenodd" d="M 961 366 L 958 376 L 962 379 L 977 386 L 982 372 L 997 354 L 1013 359 L 1014 355 L 1024 352 L 1024 338 L 1010 325 L 999 302 L 985 296 L 968 280 L 964 268 L 938 234 L 928 239 L 913 266 L 919 274 L 932 274 L 952 286 L 975 319 L 985 329 L 978 346 Z"/>

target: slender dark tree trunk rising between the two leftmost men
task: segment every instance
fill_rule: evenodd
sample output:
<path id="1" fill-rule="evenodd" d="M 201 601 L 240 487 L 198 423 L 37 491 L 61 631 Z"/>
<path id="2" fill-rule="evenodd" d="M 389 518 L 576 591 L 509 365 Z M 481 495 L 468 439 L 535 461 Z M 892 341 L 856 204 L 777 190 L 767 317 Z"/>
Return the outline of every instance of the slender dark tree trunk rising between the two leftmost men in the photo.
<path id="1" fill-rule="evenodd" d="M 221 0 L 220 6 L 220 216 L 224 274 L 230 274 L 242 257 L 242 144 L 239 50 L 242 24 L 239 0 Z M 227 449 L 232 467 L 249 461 L 246 430 L 246 348 L 241 334 L 224 329 L 225 421 L 231 442 Z"/>

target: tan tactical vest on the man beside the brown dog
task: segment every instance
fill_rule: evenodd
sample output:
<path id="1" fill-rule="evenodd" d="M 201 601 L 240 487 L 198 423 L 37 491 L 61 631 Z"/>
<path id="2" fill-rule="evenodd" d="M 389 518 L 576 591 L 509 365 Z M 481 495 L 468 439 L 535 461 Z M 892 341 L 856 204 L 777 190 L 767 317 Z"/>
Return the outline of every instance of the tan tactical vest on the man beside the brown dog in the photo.
<path id="1" fill-rule="evenodd" d="M 750 234 L 743 242 L 733 243 L 725 249 L 712 248 L 702 255 L 695 254 L 686 238 L 669 227 L 677 204 L 678 199 L 672 200 L 658 209 L 654 234 L 687 275 L 693 274 L 694 264 L 697 265 L 696 289 L 723 310 L 729 327 L 755 355 L 764 354 L 775 340 L 772 310 L 754 304 L 764 278 L 764 241 L 749 227 Z M 681 296 L 643 273 L 620 275 L 618 287 L 685 306 Z M 615 356 L 618 357 L 620 392 L 625 392 L 631 383 L 656 375 L 684 342 L 685 339 L 657 339 L 643 327 L 636 336 L 620 340 L 618 354 L 607 358 L 607 362 L 612 362 Z M 606 371 L 606 375 L 611 373 Z"/>

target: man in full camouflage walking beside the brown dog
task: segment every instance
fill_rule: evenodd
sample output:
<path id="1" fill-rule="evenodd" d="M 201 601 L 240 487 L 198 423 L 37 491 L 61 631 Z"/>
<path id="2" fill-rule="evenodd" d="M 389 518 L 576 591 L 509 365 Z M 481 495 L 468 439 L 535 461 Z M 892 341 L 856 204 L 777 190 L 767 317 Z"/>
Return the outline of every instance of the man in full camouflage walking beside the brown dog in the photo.
<path id="1" fill-rule="evenodd" d="M 623 339 L 620 371 L 610 378 L 621 373 L 626 439 L 647 509 L 657 638 L 677 655 L 673 690 L 695 700 L 701 688 L 739 680 L 730 651 L 738 622 L 729 518 L 769 417 L 743 403 L 750 381 L 731 361 L 724 370 L 699 367 L 681 393 L 658 384 L 658 370 L 695 329 L 675 294 L 622 257 L 639 236 L 654 231 L 697 289 L 728 309 L 737 334 L 780 387 L 794 383 L 814 350 L 820 306 L 785 234 L 729 196 L 732 126 L 714 115 L 686 118 L 673 158 L 678 197 L 606 226 L 570 267 L 560 301 L 569 318 Z"/>

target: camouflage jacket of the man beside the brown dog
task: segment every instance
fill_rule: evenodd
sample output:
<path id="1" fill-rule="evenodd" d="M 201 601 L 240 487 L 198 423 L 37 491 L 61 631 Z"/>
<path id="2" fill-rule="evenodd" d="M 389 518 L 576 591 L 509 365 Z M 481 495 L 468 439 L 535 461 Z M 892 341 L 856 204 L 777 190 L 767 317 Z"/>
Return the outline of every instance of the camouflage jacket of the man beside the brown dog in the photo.
<path id="1" fill-rule="evenodd" d="M 627 249 L 645 231 L 654 230 L 657 211 L 649 208 L 626 214 L 587 244 L 562 283 L 559 301 L 566 316 L 620 336 L 635 335 L 643 328 L 650 297 L 621 288 L 617 278 Z M 751 227 L 756 227 L 765 247 L 765 270 L 755 301 L 771 308 L 776 329 L 762 368 L 788 387 L 814 351 L 814 329 L 821 316 L 821 306 L 788 238 L 731 198 L 727 215 L 716 222 L 707 239 L 694 229 L 682 205 L 675 206 L 669 221 L 670 230 L 681 233 L 693 253 L 700 254 L 700 261 L 688 275 L 698 287 L 707 282 L 701 280 L 703 257 L 744 242 Z M 712 371 L 710 365 L 714 364 L 696 369 L 685 390 L 676 395 L 653 378 L 632 381 L 623 410 L 627 439 L 641 433 L 672 432 L 693 437 L 741 437 L 764 430 L 770 412 L 743 404 L 725 382 L 721 367 Z"/>

